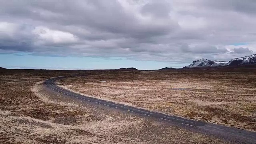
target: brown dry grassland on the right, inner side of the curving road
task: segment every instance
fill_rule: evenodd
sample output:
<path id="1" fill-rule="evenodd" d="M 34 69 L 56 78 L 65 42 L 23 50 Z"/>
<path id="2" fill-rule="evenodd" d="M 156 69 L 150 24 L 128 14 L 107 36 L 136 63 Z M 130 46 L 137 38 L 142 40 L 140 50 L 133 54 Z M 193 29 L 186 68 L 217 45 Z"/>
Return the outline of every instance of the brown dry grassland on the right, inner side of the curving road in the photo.
<path id="1" fill-rule="evenodd" d="M 60 85 L 102 99 L 256 131 L 255 68 L 95 71 L 60 80 Z"/>

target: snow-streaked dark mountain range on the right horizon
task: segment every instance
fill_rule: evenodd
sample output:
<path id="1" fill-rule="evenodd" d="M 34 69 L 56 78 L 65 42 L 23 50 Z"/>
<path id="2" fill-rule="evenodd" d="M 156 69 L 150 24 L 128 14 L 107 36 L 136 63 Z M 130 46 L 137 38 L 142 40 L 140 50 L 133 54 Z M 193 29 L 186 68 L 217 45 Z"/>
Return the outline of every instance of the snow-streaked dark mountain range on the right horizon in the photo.
<path id="1" fill-rule="evenodd" d="M 251 56 L 244 56 L 242 58 L 234 58 L 228 62 L 217 61 L 217 60 L 207 60 L 202 58 L 200 60 L 194 60 L 192 64 L 185 66 L 184 68 L 197 68 L 197 67 L 216 67 L 216 66 L 237 66 L 244 64 L 256 64 L 256 54 Z"/>

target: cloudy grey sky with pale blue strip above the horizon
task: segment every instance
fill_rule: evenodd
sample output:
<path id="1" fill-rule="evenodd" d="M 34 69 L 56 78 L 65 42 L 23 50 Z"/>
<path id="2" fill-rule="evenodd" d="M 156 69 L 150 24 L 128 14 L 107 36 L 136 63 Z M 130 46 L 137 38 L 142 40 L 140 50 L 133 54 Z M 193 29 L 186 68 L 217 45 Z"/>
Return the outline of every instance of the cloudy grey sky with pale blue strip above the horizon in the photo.
<path id="1" fill-rule="evenodd" d="M 181 68 L 256 53 L 255 0 L 0 0 L 0 66 Z"/>

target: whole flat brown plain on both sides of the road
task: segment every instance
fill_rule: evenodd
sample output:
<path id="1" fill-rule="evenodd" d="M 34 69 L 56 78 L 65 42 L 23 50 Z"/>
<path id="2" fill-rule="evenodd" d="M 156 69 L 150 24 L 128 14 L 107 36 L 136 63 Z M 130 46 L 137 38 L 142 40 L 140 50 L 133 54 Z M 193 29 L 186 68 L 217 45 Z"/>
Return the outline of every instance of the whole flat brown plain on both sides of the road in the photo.
<path id="1" fill-rule="evenodd" d="M 50 92 L 44 80 L 97 98 L 255 131 L 255 68 L 1 70 L 1 144 L 231 144 L 218 136 Z"/>

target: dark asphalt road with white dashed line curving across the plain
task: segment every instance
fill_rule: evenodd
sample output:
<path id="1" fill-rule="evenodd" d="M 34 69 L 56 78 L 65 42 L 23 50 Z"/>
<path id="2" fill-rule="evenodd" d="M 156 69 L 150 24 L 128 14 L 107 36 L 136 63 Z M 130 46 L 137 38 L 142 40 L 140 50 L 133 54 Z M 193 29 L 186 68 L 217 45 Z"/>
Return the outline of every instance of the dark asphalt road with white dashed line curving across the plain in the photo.
<path id="1" fill-rule="evenodd" d="M 105 106 L 117 108 L 119 110 L 135 112 L 138 114 L 142 114 L 144 116 L 151 116 L 154 118 L 159 118 L 161 120 L 166 120 L 167 122 L 168 121 L 177 122 L 177 123 L 183 124 L 184 126 L 188 126 L 190 128 L 196 128 L 197 130 L 200 129 L 200 131 L 208 132 L 208 133 L 214 134 L 214 135 L 219 135 L 219 136 L 227 138 L 227 139 L 232 139 L 239 143 L 242 142 L 242 143 L 248 143 L 248 144 L 250 144 L 250 143 L 256 144 L 256 133 L 255 132 L 250 132 L 250 131 L 232 128 L 232 127 L 228 127 L 228 126 L 222 126 L 222 125 L 218 125 L 218 124 L 206 123 L 206 122 L 202 122 L 199 120 L 190 120 L 190 119 L 181 118 L 178 116 L 171 116 L 171 115 L 163 114 L 160 112 L 153 112 L 150 110 L 136 108 L 133 106 L 127 106 L 124 104 L 119 104 L 119 103 L 110 102 L 107 100 L 101 100 L 101 99 L 92 98 L 89 96 L 84 96 L 81 94 L 76 94 L 76 93 L 66 90 L 64 88 L 61 88 L 54 83 L 56 80 L 59 80 L 62 78 L 67 78 L 67 76 L 62 76 L 62 77 L 51 78 L 51 79 L 45 80 L 44 84 L 47 88 L 49 88 L 53 91 L 61 92 L 62 94 L 66 95 L 66 96 L 74 97 L 79 100 L 94 102 L 96 104 L 102 104 Z"/>

